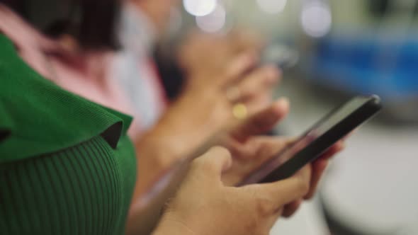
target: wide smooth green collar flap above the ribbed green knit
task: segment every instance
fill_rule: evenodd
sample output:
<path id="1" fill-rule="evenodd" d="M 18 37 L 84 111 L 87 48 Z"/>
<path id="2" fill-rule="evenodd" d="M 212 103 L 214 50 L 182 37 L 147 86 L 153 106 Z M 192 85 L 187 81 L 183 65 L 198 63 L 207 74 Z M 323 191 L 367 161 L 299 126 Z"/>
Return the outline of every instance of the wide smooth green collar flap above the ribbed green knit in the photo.
<path id="1" fill-rule="evenodd" d="M 72 147 L 101 135 L 115 148 L 131 117 L 62 90 L 0 35 L 0 163 Z"/>

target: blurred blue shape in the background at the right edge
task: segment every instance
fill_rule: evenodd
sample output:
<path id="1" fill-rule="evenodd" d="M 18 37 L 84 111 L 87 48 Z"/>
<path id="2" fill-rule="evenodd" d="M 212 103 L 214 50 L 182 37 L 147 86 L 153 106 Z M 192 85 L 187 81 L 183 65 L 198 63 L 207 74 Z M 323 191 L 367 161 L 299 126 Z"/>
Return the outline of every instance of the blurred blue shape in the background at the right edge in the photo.
<path id="1" fill-rule="evenodd" d="M 375 40 L 332 36 L 318 42 L 311 79 L 348 93 L 400 102 L 418 97 L 418 37 Z"/>

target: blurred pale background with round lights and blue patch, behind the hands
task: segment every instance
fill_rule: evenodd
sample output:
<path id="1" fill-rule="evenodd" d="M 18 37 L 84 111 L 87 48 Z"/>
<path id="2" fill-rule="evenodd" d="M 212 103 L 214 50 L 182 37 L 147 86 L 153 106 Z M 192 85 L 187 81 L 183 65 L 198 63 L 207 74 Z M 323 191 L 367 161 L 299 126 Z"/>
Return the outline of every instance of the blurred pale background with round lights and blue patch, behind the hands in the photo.
<path id="1" fill-rule="evenodd" d="M 418 1 L 183 0 L 155 59 L 169 96 L 181 76 L 164 55 L 191 28 L 253 30 L 283 67 L 276 96 L 291 111 L 277 132 L 298 135 L 356 94 L 384 110 L 354 133 L 315 200 L 271 234 L 418 234 Z M 176 85 L 177 84 L 177 85 Z"/>

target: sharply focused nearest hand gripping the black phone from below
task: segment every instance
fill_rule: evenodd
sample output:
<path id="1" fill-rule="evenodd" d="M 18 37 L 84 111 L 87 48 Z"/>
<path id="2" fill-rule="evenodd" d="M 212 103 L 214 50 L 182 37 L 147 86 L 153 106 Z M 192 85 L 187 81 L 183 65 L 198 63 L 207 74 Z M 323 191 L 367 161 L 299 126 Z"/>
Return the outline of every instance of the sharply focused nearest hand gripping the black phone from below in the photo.
<path id="1" fill-rule="evenodd" d="M 310 190 L 310 165 L 286 180 L 235 188 L 221 180 L 231 164 L 220 147 L 195 159 L 154 235 L 267 235 L 284 207 Z"/>

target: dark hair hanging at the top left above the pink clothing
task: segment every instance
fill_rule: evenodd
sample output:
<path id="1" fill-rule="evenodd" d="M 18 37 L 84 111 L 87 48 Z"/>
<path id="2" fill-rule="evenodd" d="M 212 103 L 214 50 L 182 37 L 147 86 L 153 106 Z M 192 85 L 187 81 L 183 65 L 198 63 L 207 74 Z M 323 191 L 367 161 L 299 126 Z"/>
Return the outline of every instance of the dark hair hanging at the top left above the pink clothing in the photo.
<path id="1" fill-rule="evenodd" d="M 72 35 L 86 50 L 117 49 L 122 0 L 0 0 L 51 37 Z"/>

